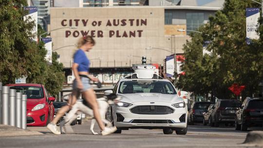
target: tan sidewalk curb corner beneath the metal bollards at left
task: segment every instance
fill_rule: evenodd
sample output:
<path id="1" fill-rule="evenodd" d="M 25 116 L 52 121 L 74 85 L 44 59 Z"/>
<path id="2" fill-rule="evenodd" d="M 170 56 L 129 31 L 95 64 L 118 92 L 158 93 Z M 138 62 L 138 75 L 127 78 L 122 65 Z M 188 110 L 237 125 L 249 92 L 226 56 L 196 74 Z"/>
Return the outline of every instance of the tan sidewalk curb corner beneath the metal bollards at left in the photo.
<path id="1" fill-rule="evenodd" d="M 18 127 L 0 125 L 0 137 L 10 137 L 10 136 L 32 136 L 32 135 L 42 135 L 43 133 L 38 131 L 32 131 L 29 129 L 21 129 Z"/>

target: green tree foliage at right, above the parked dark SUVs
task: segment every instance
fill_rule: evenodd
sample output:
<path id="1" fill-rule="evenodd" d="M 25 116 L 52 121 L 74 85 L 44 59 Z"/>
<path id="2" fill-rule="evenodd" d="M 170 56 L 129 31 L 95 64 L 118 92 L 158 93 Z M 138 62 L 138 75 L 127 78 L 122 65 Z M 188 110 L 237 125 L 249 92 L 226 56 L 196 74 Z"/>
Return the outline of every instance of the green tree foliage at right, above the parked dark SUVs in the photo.
<path id="1" fill-rule="evenodd" d="M 249 0 L 225 0 L 224 8 L 199 28 L 202 34 L 191 34 L 184 45 L 186 60 L 176 85 L 179 88 L 204 95 L 212 93 L 218 98 L 231 98 L 228 87 L 234 83 L 245 85 L 243 96 L 259 94 L 263 81 L 263 25 L 260 20 L 260 39 L 247 45 L 245 8 L 259 7 Z M 210 41 L 203 56 L 203 44 Z"/>

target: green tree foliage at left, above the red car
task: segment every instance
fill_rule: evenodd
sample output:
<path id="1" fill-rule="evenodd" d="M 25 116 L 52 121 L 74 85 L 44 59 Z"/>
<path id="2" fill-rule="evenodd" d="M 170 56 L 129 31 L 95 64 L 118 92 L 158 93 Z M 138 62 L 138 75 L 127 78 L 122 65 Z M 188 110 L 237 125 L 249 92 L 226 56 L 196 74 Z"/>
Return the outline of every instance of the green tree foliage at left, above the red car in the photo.
<path id="1" fill-rule="evenodd" d="M 45 60 L 44 42 L 30 40 L 35 23 L 24 21 L 28 12 L 26 0 L 0 0 L 0 82 L 15 83 L 16 78 L 26 76 L 27 83 L 45 85 L 56 95 L 64 82 L 63 64 L 58 63 L 57 53 L 52 54 L 52 64 Z M 38 25 L 38 37 L 45 32 Z"/>

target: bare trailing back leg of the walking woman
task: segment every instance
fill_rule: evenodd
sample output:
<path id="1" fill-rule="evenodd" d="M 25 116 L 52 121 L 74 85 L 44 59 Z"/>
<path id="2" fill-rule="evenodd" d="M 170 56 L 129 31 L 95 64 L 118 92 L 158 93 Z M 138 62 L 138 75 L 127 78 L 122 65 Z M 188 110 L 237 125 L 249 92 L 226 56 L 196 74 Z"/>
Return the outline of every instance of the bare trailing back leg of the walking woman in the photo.
<path id="1" fill-rule="evenodd" d="M 70 98 L 68 100 L 68 103 L 72 106 L 75 104 L 76 102 L 76 97 L 77 97 L 77 91 L 73 91 L 72 94 L 70 95 Z M 63 106 L 61 107 L 57 113 L 56 113 L 56 117 L 51 121 L 52 124 L 56 125 L 56 123 L 58 122 L 58 120 L 63 117 L 63 115 L 70 110 L 70 106 L 67 105 L 67 106 Z"/>

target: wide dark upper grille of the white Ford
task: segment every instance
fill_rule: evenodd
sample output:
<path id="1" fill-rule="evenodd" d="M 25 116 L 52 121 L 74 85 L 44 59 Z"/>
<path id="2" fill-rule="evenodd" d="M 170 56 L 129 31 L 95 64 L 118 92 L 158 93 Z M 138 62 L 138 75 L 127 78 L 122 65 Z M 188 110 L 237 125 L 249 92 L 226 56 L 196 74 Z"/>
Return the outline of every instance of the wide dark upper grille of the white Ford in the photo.
<path id="1" fill-rule="evenodd" d="M 152 115 L 162 115 L 173 113 L 173 109 L 169 106 L 135 106 L 130 109 L 132 113 L 135 114 L 152 114 Z"/>

